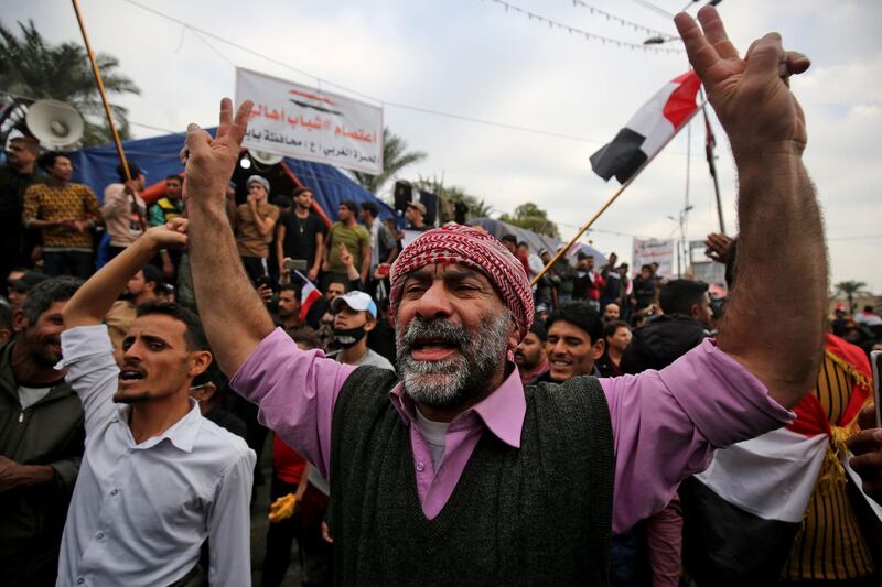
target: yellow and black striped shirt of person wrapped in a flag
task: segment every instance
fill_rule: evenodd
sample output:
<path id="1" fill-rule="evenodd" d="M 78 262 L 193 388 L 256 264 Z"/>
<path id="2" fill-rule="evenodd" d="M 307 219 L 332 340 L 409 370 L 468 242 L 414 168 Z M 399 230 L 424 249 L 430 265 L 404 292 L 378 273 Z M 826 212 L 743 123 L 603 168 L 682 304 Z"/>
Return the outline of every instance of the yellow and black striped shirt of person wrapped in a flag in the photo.
<path id="1" fill-rule="evenodd" d="M 854 384 L 854 378 L 825 352 L 814 393 L 831 426 L 842 417 Z M 846 485 L 830 483 L 824 488 L 816 485 L 783 577 L 789 580 L 841 580 L 863 577 L 872 572 L 870 548 L 861 535 Z"/>

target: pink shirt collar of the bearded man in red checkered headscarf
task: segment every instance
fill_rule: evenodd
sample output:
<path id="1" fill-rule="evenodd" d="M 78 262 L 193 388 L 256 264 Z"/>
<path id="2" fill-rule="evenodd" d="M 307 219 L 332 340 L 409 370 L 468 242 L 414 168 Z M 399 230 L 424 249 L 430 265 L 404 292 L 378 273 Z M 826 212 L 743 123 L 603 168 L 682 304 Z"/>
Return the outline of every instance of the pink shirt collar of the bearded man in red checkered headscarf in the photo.
<path id="1" fill-rule="evenodd" d="M 520 448 L 520 432 L 524 427 L 524 416 L 527 414 L 527 400 L 524 396 L 524 385 L 520 382 L 517 367 L 509 362 L 509 373 L 503 383 L 465 412 L 459 414 L 453 422 L 477 414 L 484 425 L 502 442 L 514 448 Z M 405 384 L 398 382 L 389 392 L 401 420 L 410 425 L 415 420 L 413 400 L 405 393 Z"/>

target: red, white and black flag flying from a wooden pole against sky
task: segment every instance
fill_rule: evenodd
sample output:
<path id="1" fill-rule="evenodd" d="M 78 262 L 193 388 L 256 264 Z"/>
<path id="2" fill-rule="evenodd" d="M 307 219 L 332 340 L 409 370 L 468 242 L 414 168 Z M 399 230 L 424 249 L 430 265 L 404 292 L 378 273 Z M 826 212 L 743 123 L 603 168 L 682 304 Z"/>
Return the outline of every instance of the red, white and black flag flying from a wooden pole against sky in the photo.
<path id="1" fill-rule="evenodd" d="M 698 111 L 696 94 L 701 80 L 693 72 L 671 79 L 628 120 L 615 139 L 591 155 L 591 169 L 609 180 L 627 182 Z"/>

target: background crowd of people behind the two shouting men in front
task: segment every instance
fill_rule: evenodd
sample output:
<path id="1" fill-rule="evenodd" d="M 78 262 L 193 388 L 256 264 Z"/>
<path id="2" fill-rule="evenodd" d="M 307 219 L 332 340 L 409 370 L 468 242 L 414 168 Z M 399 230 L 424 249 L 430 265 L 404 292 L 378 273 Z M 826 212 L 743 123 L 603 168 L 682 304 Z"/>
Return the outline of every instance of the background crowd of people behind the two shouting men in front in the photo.
<path id="1" fill-rule="evenodd" d="M 3 407 L 9 412 L 3 415 L 3 425 L 14 425 L 17 417 L 21 422 L 23 416 L 19 413 L 51 407 L 45 401 L 51 396 L 39 392 L 31 395 L 35 401 L 23 400 L 29 392 L 25 390 L 22 395 L 22 389 L 41 385 L 23 380 L 15 365 L 7 358 L 15 339 L 57 338 L 60 326 L 41 322 L 56 300 L 46 298 L 41 292 L 51 290 L 51 284 L 64 275 L 88 279 L 98 257 L 112 259 L 141 238 L 149 227 L 186 216 L 182 175 L 166 177 L 164 194 L 148 205 L 141 197 L 146 182 L 137 162 L 128 162 L 128 172 L 131 180 L 126 180 L 120 167 L 120 181 L 106 186 L 99 200 L 88 186 L 71 182 L 73 169 L 66 154 L 40 155 L 32 139 L 11 141 L 8 164 L 0 167 L 0 221 L 3 225 L 0 275 L 6 280 L 7 293 L 0 304 L 0 337 L 4 341 L 13 340 L 4 349 L 0 377 L 8 380 L 12 396 L 21 401 L 14 410 Z M 237 200 L 237 196 L 244 196 L 244 200 Z M 405 231 L 421 232 L 429 228 L 424 221 L 426 207 L 411 202 L 402 219 L 380 221 L 375 204 L 344 200 L 336 210 L 337 220 L 326 226 L 313 211 L 313 197 L 306 186 L 291 194 L 271 194 L 269 182 L 260 175 L 252 175 L 244 186 L 230 183 L 226 209 L 243 267 L 277 326 L 298 347 L 321 349 L 325 356 L 343 363 L 394 370 L 397 340 L 389 313 L 389 270 L 404 249 Z M 107 250 L 98 256 L 104 232 L 108 236 Z M 523 263 L 528 278 L 542 273 L 533 290 L 535 322 L 514 352 L 514 362 L 525 384 L 560 383 L 583 374 L 620 377 L 647 369 L 659 370 L 712 336 L 718 320 L 723 319 L 724 300 L 711 298 L 707 284 L 660 275 L 657 265 L 646 264 L 632 271 L 627 263 L 619 263 L 614 252 L 603 264 L 579 252 L 574 258 L 563 256 L 544 271 L 557 251 L 531 251 L 513 235 L 501 240 Z M 719 242 L 714 238 L 708 241 L 712 257 L 728 263 L 728 279 L 734 281 L 731 268 L 735 241 L 727 239 L 723 247 Z M 139 306 L 164 301 L 195 311 L 198 304 L 193 291 L 185 250 L 161 250 L 131 276 L 123 295 L 104 320 L 117 361 L 122 365 L 123 340 Z M 28 300 L 34 292 L 36 298 L 29 305 Z M 30 322 L 14 318 L 20 311 Z M 880 344 L 882 318 L 870 306 L 852 313 L 853 308 L 836 308 L 830 322 L 831 335 L 869 351 Z M 838 363 L 831 365 L 835 369 Z M 863 371 L 863 365 L 852 366 L 840 374 L 847 379 Z M 58 381 L 51 383 L 53 389 L 63 385 Z M 294 552 L 293 543 L 298 545 L 295 552 L 303 585 L 330 584 L 332 539 L 323 522 L 330 498 L 327 480 L 280 438 L 268 441 L 269 431 L 258 422 L 257 407 L 230 393 L 227 384 L 226 377 L 214 366 L 194 380 L 193 396 L 205 417 L 241 436 L 256 453 L 254 482 L 270 485 L 271 519 L 273 515 L 276 519 L 267 534 L 261 585 L 282 583 Z M 843 396 L 832 403 L 848 403 L 854 384 L 850 379 L 843 382 L 839 390 Z M 827 387 L 825 390 L 832 395 Z M 827 400 L 825 402 L 825 413 L 831 424 L 836 424 L 836 409 L 828 405 Z M 53 556 L 57 558 L 60 520 L 64 520 L 61 510 L 69 500 L 76 478 L 77 450 L 83 450 L 82 421 L 52 417 L 53 426 L 69 428 L 69 434 L 56 438 L 58 446 L 52 447 L 58 455 L 66 453 L 69 465 L 63 469 L 66 476 L 56 488 L 46 489 L 45 494 L 36 498 L 37 503 L 53 509 L 52 523 L 45 523 L 47 512 L 33 511 L 33 502 L 28 501 L 34 499 L 33 496 L 2 501 L 0 515 L 3 519 L 0 534 L 6 534 L 0 535 L 6 550 L 0 555 L 14 553 L 10 536 L 21 540 L 15 532 L 30 529 L 29 555 L 35 556 L 34 564 L 51 562 Z M 13 441 L 7 436 L 0 433 L 0 455 L 4 459 L 12 458 L 13 453 L 10 444 Z M 15 437 L 14 442 L 33 441 Z M 41 444 L 47 442 L 52 441 L 40 441 Z M 269 479 L 263 478 L 260 468 L 265 447 L 272 453 Z M 20 445 L 15 450 L 20 456 L 28 453 Z M 34 454 L 43 448 L 34 447 Z M 0 496 L 3 491 L 12 489 L 0 485 Z M 290 496 L 295 498 L 292 500 Z M 824 496 L 822 500 L 829 501 L 829 493 Z M 879 542 L 873 542 L 875 539 L 863 528 L 861 517 L 864 514 L 852 508 L 851 499 L 842 496 L 837 499 L 841 515 L 825 518 L 821 513 L 807 513 L 805 524 L 793 539 L 793 547 L 785 548 L 787 562 L 783 579 L 795 583 L 872 580 L 867 577 L 878 572 L 880 551 L 873 552 L 873 548 Z M 820 503 L 813 507 L 820 508 Z M 10 513 L 10 509 L 17 507 L 22 510 Z M 286 507 L 292 515 L 279 513 Z M 675 496 L 665 511 L 615 536 L 614 584 L 677 585 L 680 581 L 684 553 L 696 547 L 682 539 L 684 510 L 685 504 Z M 18 524 L 14 529 L 12 519 Z M 696 568 L 701 566 L 696 564 Z M 696 570 L 695 576 L 700 573 Z M 32 575 L 35 576 L 39 575 Z M 41 580 L 35 584 L 44 584 Z M 52 577 L 45 580 L 45 584 L 53 583 Z"/>

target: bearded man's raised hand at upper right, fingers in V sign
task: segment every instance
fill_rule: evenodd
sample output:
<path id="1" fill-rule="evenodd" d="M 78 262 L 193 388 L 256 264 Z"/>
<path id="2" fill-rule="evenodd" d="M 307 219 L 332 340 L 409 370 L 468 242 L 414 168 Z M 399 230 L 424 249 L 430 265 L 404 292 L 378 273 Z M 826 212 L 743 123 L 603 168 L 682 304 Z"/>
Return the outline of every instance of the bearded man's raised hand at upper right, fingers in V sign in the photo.
<path id="1" fill-rule="evenodd" d="M 808 57 L 785 52 L 781 35 L 768 33 L 741 58 L 717 9 L 703 7 L 698 20 L 701 29 L 686 13 L 677 14 L 674 22 L 735 159 L 762 156 L 766 145 L 775 143 L 802 154 L 807 140 L 805 117 L 787 77 L 808 69 Z"/>

